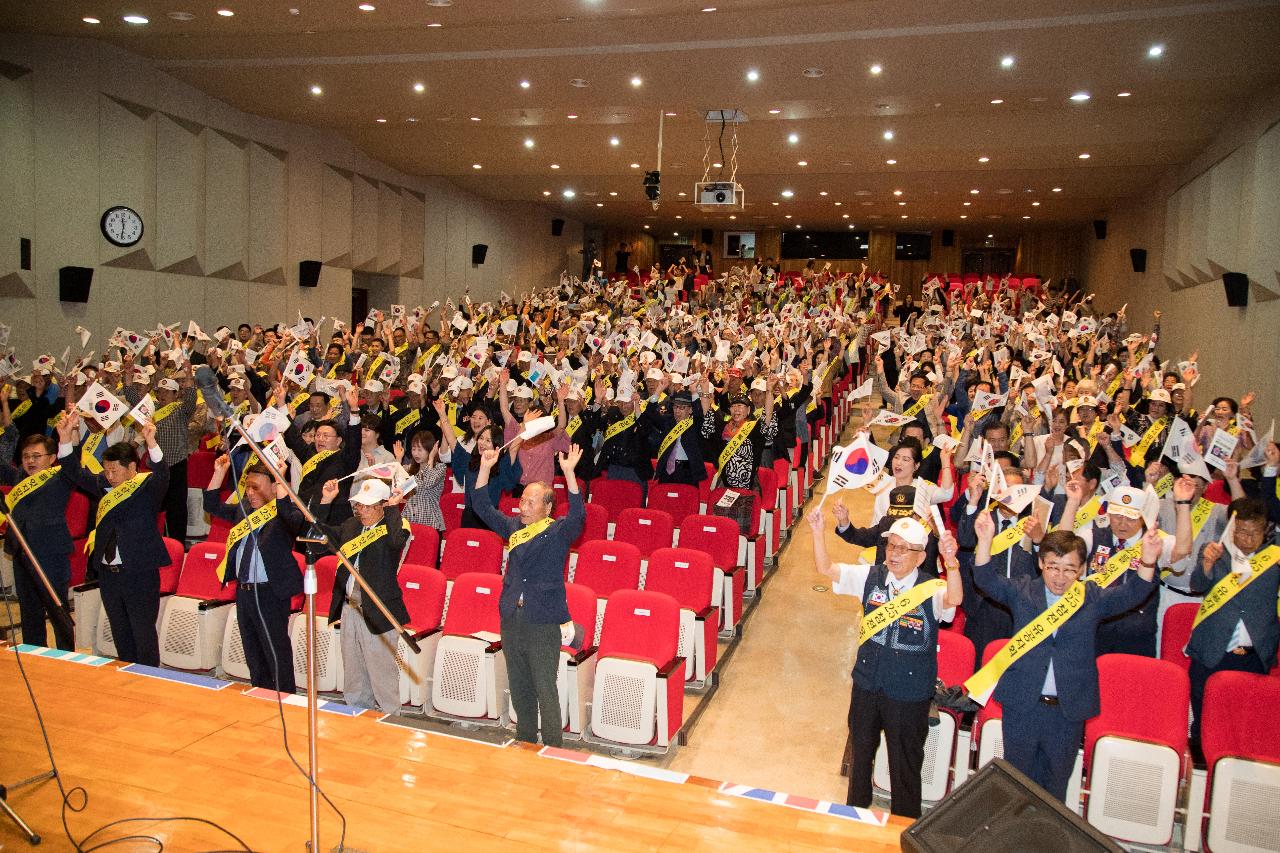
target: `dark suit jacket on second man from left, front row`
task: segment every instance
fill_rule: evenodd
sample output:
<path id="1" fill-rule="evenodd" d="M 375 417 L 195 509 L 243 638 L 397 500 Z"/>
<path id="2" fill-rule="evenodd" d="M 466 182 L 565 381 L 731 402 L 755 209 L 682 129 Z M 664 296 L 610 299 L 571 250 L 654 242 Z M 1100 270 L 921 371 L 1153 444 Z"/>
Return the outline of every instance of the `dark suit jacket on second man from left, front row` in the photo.
<path id="1" fill-rule="evenodd" d="M 74 453 L 78 459 L 79 448 Z M 65 460 L 64 460 L 65 462 Z M 164 508 L 164 496 L 169 491 L 169 466 L 164 460 L 150 462 L 151 475 L 137 492 L 106 514 L 93 539 L 93 553 L 90 567 L 95 573 L 102 569 L 104 546 L 115 538 L 120 552 L 120 564 L 128 571 L 156 571 L 169 565 L 169 549 L 164 547 L 164 537 L 156 526 L 156 519 Z M 101 498 L 111 488 L 102 474 L 90 474 L 79 469 L 79 487 L 96 498 Z"/>

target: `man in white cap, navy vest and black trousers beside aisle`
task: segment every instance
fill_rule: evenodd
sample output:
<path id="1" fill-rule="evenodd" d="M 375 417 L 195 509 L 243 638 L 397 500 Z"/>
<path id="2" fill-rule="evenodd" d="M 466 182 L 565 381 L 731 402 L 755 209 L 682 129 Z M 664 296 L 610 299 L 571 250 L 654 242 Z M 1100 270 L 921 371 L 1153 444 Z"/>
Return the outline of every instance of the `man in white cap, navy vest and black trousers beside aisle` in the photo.
<path id="1" fill-rule="evenodd" d="M 847 802 L 863 808 L 872 804 L 872 766 L 883 733 L 891 811 L 919 817 L 924 740 L 938 676 L 938 622 L 954 619 L 964 601 L 955 537 L 943 532 L 940 540 L 947 575 L 942 581 L 919 570 L 929 534 L 915 519 L 899 519 L 884 533 L 884 562 L 874 566 L 832 564 L 819 510 L 809 514 L 809 526 L 814 564 L 832 580 L 832 592 L 861 601 L 849 706 L 854 757 Z"/>

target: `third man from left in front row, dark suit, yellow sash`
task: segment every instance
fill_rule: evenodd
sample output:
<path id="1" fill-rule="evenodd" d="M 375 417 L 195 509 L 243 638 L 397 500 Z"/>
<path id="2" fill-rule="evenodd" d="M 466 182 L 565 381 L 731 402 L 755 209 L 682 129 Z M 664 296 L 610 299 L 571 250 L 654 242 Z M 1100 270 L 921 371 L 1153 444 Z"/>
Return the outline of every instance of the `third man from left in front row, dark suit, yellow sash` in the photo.
<path id="1" fill-rule="evenodd" d="M 214 461 L 214 475 L 205 489 L 205 512 L 236 525 L 227 543 L 223 581 L 237 581 L 236 620 L 250 683 L 293 693 L 289 602 L 302 592 L 293 540 L 305 520 L 285 500 L 284 487 L 273 482 L 271 473 L 261 462 L 250 465 L 241 502 L 223 503 L 220 491 L 230 469 L 232 460 L 227 455 Z M 274 510 L 253 517 L 273 502 Z M 246 521 L 243 528 L 238 526 Z"/>

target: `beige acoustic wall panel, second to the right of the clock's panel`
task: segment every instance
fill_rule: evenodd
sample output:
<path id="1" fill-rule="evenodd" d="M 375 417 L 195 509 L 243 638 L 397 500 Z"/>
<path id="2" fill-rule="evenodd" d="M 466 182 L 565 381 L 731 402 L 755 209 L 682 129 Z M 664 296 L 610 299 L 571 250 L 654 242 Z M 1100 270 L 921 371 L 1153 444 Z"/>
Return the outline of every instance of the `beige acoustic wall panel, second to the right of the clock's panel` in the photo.
<path id="1" fill-rule="evenodd" d="M 248 278 L 248 140 L 205 131 L 205 274 Z"/>

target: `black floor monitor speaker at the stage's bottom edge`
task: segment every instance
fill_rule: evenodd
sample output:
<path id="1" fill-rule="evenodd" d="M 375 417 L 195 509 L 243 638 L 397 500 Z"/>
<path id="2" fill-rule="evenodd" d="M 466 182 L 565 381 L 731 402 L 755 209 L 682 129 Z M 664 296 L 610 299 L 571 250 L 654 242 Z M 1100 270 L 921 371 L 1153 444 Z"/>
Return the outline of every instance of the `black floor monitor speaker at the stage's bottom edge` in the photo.
<path id="1" fill-rule="evenodd" d="M 996 758 L 902 833 L 910 853 L 1084 853 L 1123 848 Z"/>

